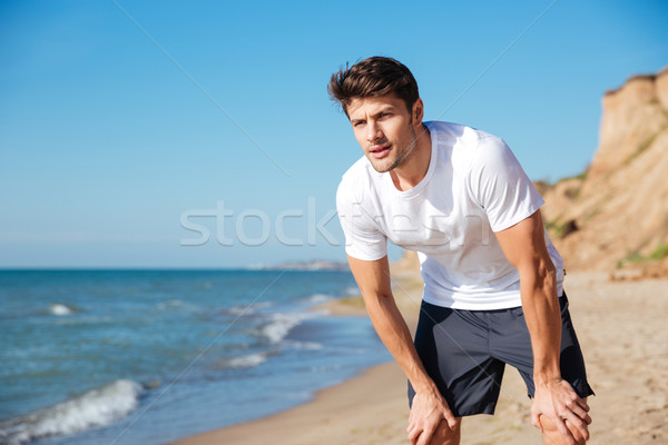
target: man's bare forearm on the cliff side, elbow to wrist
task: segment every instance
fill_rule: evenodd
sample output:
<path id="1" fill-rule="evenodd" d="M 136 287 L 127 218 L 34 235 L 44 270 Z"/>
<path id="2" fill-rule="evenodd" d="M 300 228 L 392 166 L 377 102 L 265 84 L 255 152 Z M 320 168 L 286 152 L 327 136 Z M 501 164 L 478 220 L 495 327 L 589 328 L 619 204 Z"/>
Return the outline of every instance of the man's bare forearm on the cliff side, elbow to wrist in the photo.
<path id="1" fill-rule="evenodd" d="M 561 313 L 552 265 L 540 265 L 538 273 L 520 274 L 522 308 L 533 349 L 533 379 L 537 385 L 561 377 Z"/>

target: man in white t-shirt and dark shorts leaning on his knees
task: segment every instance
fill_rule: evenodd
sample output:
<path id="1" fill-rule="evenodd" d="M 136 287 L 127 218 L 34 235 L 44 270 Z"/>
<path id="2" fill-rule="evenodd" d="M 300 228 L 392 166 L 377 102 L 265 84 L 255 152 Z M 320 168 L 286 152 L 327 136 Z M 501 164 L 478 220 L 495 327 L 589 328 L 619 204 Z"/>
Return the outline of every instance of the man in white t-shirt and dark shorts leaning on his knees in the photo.
<path id="1" fill-rule="evenodd" d="M 462 416 L 493 414 L 504 364 L 532 397 L 544 444 L 589 439 L 584 363 L 542 198 L 508 146 L 424 122 L 410 70 L 372 57 L 328 91 L 364 151 L 336 205 L 370 318 L 409 378 L 412 444 L 459 444 Z M 414 343 L 392 296 L 386 243 L 416 250 L 424 279 Z"/>

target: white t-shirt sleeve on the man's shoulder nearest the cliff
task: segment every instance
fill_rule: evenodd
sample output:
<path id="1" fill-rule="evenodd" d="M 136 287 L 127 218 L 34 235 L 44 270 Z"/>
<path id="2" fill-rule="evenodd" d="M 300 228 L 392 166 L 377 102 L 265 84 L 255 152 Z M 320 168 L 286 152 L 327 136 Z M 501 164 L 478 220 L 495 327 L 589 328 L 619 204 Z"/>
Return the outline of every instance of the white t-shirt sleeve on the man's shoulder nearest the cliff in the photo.
<path id="1" fill-rule="evenodd" d="M 493 136 L 479 141 L 469 170 L 469 187 L 493 231 L 520 222 L 544 204 L 508 145 Z"/>

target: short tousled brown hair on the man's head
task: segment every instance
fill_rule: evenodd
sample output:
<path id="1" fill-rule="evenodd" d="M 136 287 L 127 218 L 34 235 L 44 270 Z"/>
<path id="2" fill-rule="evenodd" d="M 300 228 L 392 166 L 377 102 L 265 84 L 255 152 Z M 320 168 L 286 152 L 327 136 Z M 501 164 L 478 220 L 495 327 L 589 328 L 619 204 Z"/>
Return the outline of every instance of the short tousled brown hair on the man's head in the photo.
<path id="1" fill-rule="evenodd" d="M 402 99 L 409 112 L 420 98 L 418 82 L 411 71 L 390 57 L 370 57 L 332 75 L 327 91 L 341 103 L 347 116 L 353 99 L 394 95 Z"/>

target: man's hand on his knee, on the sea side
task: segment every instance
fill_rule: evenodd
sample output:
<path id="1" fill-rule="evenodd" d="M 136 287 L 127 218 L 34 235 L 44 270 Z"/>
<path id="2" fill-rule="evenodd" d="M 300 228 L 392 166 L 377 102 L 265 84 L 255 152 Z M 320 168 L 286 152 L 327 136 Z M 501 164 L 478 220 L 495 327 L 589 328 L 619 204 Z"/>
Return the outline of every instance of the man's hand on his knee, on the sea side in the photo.
<path id="1" fill-rule="evenodd" d="M 452 415 L 448 403 L 438 393 L 418 393 L 413 397 L 413 406 L 409 417 L 409 441 L 413 445 L 428 445 L 439 427 L 445 419 L 450 429 L 458 427 L 458 421 Z"/>

